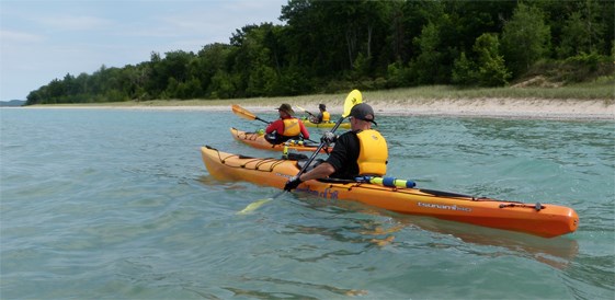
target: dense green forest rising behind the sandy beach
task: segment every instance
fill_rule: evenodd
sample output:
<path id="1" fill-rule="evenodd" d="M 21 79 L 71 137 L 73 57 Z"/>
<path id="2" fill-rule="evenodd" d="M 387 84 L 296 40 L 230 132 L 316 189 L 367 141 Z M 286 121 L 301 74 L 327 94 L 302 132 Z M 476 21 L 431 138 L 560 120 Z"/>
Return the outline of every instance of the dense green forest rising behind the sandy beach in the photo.
<path id="1" fill-rule="evenodd" d="M 614 19 L 613 0 L 289 0 L 283 25 L 67 73 L 30 92 L 26 105 L 506 86 L 538 74 L 569 84 L 613 76 Z"/>

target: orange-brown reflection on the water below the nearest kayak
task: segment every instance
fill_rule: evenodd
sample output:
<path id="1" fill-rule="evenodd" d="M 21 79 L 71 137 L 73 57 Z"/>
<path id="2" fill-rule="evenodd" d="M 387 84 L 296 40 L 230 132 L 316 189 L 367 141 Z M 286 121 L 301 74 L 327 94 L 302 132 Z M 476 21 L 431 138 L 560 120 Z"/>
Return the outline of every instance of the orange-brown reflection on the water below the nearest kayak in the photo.
<path id="1" fill-rule="evenodd" d="M 299 198 L 312 209 L 335 211 L 338 218 L 344 218 L 348 224 L 342 228 L 288 224 L 287 228 L 292 233 L 320 234 L 340 242 L 362 243 L 365 244 L 366 249 L 395 243 L 397 232 L 412 228 L 444 234 L 444 236 L 440 236 L 442 239 L 439 240 L 439 243 L 431 243 L 430 247 L 454 247 L 459 251 L 471 251 L 474 254 L 488 256 L 516 255 L 532 258 L 559 269 L 568 267 L 579 253 L 578 242 L 566 235 L 545 239 L 430 217 L 399 215 L 354 201 L 329 201 L 323 204 L 320 199 L 314 199 L 309 196 L 299 196 Z M 344 217 L 344 214 L 352 215 L 352 212 L 364 212 L 386 218 L 385 221 L 379 221 L 381 219 L 364 220 Z M 480 252 L 472 245 L 459 244 L 456 241 L 497 249 L 480 249 L 485 251 Z M 501 252 L 498 250 L 502 247 L 506 251 Z M 348 255 L 348 253 L 342 255 Z"/>

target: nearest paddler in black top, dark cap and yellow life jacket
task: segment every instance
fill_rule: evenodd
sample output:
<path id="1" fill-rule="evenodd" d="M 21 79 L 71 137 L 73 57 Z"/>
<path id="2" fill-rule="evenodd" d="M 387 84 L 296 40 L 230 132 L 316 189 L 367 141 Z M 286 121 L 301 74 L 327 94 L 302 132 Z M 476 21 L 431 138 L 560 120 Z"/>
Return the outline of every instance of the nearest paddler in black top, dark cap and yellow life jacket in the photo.
<path id="1" fill-rule="evenodd" d="M 300 183 L 324 177 L 355 180 L 358 176 L 383 176 L 387 172 L 388 147 L 385 138 L 372 129 L 374 120 L 372 106 L 360 103 L 350 112 L 351 130 L 340 137 L 326 132 L 322 140 L 335 142 L 329 158 L 309 172 L 293 176 L 284 185 L 285 191 L 296 188 Z"/>

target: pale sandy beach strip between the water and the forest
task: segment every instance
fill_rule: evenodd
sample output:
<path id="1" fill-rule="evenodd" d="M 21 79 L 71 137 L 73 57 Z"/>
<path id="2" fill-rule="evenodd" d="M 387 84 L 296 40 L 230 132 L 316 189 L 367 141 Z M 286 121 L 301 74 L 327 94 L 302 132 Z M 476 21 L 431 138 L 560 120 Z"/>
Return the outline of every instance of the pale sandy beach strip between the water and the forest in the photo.
<path id="1" fill-rule="evenodd" d="M 276 105 L 271 105 L 276 101 Z M 117 105 L 96 104 L 45 104 L 20 108 L 106 108 L 106 109 L 151 109 L 151 111 L 230 111 L 231 104 L 239 104 L 254 113 L 275 111 L 275 99 L 269 103 L 247 103 L 228 101 L 228 104 L 208 104 L 194 101 L 147 101 L 141 103 L 118 103 Z M 312 113 L 318 112 L 318 101 L 293 101 L 293 107 L 301 106 Z M 615 105 L 604 100 L 547 100 L 547 99 L 441 99 L 441 100 L 372 100 L 365 101 L 374 107 L 376 115 L 383 116 L 444 116 L 444 117 L 496 117 L 496 118 L 529 118 L 529 119 L 595 119 L 615 120 Z M 185 104 L 185 105 L 183 105 Z M 343 112 L 342 101 L 326 103 L 331 114 Z M 297 116 L 307 115 L 295 109 Z M 377 117 L 377 116 L 376 116 Z"/>

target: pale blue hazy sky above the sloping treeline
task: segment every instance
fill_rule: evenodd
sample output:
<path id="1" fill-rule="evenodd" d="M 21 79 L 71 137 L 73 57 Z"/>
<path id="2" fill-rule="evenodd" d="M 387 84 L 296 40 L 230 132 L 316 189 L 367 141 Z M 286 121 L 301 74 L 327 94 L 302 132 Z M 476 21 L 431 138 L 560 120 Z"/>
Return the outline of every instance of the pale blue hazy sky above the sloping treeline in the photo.
<path id="1" fill-rule="evenodd" d="M 198 51 L 278 18 L 288 0 L 0 0 L 0 101 L 67 73 Z"/>

